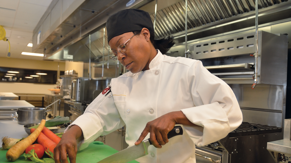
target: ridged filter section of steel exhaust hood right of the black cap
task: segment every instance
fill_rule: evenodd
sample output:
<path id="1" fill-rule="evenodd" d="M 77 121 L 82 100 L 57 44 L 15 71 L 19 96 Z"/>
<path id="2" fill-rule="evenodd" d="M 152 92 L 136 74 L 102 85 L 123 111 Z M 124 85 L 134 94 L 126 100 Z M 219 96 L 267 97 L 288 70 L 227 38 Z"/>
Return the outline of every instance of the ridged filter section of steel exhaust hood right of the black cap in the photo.
<path id="1" fill-rule="evenodd" d="M 259 23 L 290 18 L 290 3 L 286 3 L 287 1 L 259 0 Z M 280 4 L 281 2 L 283 3 Z M 254 26 L 254 10 L 254 0 L 188 0 L 188 40 Z M 151 14 L 151 17 L 153 21 L 155 14 Z M 156 37 L 171 35 L 175 39 L 179 38 L 175 40 L 176 43 L 184 41 L 185 0 L 157 11 L 156 19 Z M 232 27 L 226 27 L 227 24 L 232 24 Z M 213 27 L 218 25 L 223 29 L 214 31 Z M 212 31 L 201 34 L 201 30 Z M 193 33 L 196 33 L 195 37 L 191 37 Z"/>

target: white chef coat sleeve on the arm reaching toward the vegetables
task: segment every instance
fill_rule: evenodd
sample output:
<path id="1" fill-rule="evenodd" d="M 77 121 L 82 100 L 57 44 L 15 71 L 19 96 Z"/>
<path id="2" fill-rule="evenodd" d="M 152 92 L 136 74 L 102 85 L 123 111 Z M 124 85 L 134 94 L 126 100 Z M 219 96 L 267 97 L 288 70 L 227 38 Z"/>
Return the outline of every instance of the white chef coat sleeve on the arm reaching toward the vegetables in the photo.
<path id="1" fill-rule="evenodd" d="M 107 96 L 99 94 L 69 127 L 77 125 L 82 129 L 83 136 L 77 139 L 78 150 L 85 149 L 99 136 L 107 135 L 125 125 L 115 106 L 112 93 Z"/>

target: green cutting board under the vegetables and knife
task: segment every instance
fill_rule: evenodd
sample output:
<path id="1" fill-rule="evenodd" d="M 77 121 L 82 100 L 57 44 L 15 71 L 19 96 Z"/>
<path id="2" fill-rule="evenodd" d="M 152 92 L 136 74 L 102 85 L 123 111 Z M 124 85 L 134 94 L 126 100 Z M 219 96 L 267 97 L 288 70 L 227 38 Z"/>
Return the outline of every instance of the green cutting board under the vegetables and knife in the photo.
<path id="1" fill-rule="evenodd" d="M 10 162 L 6 159 L 6 152 L 0 151 L 0 162 Z M 117 150 L 111 148 L 108 145 L 103 145 L 102 142 L 92 142 L 86 149 L 83 149 L 82 151 L 78 151 L 76 163 L 96 163 L 103 158 L 106 158 L 114 153 L 118 152 Z M 68 159 L 69 161 L 69 159 Z M 30 162 L 30 160 L 25 160 L 24 156 L 21 155 L 15 163 L 24 163 L 24 162 Z M 137 161 L 130 161 L 129 163 L 138 163 Z"/>

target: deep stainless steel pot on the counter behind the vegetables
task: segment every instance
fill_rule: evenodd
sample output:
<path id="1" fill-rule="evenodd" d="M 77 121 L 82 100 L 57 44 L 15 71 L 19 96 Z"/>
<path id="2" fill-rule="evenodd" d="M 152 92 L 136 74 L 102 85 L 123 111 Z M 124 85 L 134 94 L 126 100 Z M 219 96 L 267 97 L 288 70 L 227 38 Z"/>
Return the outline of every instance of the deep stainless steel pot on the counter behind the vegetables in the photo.
<path id="1" fill-rule="evenodd" d="M 18 124 L 40 123 L 42 119 L 45 120 L 46 112 L 52 111 L 42 107 L 25 107 L 13 110 L 17 110 Z"/>

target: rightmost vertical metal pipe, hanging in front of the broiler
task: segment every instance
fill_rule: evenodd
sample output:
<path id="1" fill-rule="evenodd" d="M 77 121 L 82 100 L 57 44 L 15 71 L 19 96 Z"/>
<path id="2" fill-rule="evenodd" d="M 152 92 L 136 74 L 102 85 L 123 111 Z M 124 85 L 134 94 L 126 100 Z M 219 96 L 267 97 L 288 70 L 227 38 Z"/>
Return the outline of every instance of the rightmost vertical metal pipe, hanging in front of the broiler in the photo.
<path id="1" fill-rule="evenodd" d="M 258 47 L 258 15 L 259 15 L 259 10 L 258 10 L 258 1 L 256 1 L 256 41 L 255 41 L 255 47 L 256 47 L 256 51 L 255 51 L 255 81 L 254 84 L 252 86 L 252 88 L 254 89 L 256 87 L 256 85 L 258 84 L 258 51 L 259 51 L 259 47 Z"/>

